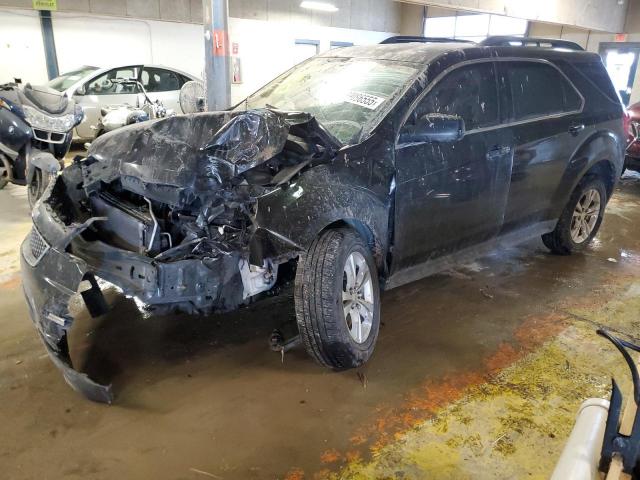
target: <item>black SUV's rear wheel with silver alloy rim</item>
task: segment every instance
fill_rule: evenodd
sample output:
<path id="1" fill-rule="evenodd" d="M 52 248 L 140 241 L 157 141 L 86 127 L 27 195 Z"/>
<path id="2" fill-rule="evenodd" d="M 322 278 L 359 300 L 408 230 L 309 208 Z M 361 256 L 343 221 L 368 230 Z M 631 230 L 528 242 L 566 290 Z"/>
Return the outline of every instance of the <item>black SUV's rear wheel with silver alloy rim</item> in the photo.
<path id="1" fill-rule="evenodd" d="M 584 249 L 596 236 L 607 204 L 607 190 L 602 179 L 583 179 L 571 194 L 556 228 L 542 236 L 553 253 L 570 255 Z"/>

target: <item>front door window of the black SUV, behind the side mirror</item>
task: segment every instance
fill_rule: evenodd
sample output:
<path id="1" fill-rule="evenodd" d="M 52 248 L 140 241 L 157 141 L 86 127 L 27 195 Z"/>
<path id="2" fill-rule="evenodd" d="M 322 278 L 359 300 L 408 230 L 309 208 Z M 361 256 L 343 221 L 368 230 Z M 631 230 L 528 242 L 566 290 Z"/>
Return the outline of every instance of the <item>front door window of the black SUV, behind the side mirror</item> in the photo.
<path id="1" fill-rule="evenodd" d="M 415 119 L 430 113 L 462 117 L 465 129 L 498 123 L 498 88 L 493 62 L 460 67 L 440 80 L 420 102 Z"/>

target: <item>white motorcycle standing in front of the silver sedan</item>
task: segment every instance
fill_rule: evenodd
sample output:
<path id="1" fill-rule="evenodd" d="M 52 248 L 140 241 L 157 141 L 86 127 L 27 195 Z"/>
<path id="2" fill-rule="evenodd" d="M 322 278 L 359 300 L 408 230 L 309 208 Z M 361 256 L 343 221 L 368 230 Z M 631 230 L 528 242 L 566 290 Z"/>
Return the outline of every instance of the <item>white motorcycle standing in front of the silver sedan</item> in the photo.
<path id="1" fill-rule="evenodd" d="M 97 125 L 91 127 L 97 131 L 96 138 L 105 133 L 112 132 L 117 128 L 124 127 L 125 125 L 175 115 L 175 112 L 171 109 L 166 109 L 160 100 L 152 101 L 140 81 L 123 78 L 117 78 L 111 81 L 124 86 L 134 86 L 137 88 L 139 94 L 142 95 L 142 106 L 140 106 L 140 97 L 138 97 L 137 105 L 135 106 L 123 104 L 103 107 L 100 110 L 101 117 Z"/>

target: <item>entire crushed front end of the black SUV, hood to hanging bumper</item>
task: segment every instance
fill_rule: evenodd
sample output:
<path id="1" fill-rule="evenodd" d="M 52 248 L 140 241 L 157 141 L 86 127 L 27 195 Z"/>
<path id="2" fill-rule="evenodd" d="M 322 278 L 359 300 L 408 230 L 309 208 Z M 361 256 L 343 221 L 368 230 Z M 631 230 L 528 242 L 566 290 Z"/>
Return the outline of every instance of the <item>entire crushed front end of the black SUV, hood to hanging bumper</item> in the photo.
<path id="1" fill-rule="evenodd" d="M 188 313 L 272 289 L 301 247 L 261 227 L 258 199 L 338 146 L 313 117 L 272 110 L 171 117 L 96 140 L 36 204 L 21 249 L 31 317 L 67 382 L 113 400 L 110 385 L 73 368 L 67 344 L 73 295 L 92 316 L 108 309 L 97 279 L 155 311 Z"/>

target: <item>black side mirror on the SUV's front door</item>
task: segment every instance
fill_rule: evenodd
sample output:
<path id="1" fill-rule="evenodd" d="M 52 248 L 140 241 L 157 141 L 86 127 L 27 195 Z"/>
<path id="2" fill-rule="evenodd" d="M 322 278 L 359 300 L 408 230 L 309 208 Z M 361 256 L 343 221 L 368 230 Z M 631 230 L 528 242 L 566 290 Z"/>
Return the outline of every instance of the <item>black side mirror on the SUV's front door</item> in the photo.
<path id="1" fill-rule="evenodd" d="M 405 125 L 399 143 L 457 142 L 464 137 L 464 120 L 456 115 L 428 113 L 415 125 Z"/>

